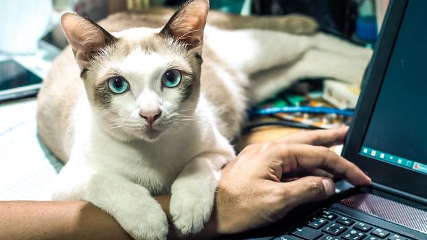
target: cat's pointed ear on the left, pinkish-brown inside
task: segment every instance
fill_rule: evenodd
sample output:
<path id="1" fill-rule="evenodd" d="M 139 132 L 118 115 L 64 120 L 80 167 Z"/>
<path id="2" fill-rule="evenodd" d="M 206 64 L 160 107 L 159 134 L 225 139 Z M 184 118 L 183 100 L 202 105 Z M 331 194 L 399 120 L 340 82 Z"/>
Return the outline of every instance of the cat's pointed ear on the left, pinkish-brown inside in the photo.
<path id="1" fill-rule="evenodd" d="M 100 25 L 75 12 L 62 14 L 61 27 L 73 49 L 76 62 L 81 71 L 84 71 L 89 66 L 89 61 L 97 51 L 117 40 Z"/>

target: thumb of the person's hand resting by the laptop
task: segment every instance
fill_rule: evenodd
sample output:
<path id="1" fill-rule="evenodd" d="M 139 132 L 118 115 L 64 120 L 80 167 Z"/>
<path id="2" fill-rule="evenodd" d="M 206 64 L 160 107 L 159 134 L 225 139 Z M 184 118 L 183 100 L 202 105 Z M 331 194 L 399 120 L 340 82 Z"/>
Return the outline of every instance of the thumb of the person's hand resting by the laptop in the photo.
<path id="1" fill-rule="evenodd" d="M 324 200 L 335 193 L 335 184 L 330 178 L 308 176 L 292 182 L 283 182 L 282 185 L 290 193 L 288 204 L 291 208 L 307 202 Z"/>

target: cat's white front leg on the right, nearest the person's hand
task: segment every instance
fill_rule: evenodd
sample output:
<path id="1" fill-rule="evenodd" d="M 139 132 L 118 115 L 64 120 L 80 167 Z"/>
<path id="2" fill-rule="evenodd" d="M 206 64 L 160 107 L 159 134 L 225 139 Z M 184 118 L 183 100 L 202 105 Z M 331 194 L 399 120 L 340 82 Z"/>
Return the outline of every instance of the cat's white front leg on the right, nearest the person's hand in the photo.
<path id="1" fill-rule="evenodd" d="M 172 184 L 170 213 L 174 224 L 184 235 L 199 232 L 211 217 L 220 167 L 226 163 L 220 154 L 196 156 Z"/>

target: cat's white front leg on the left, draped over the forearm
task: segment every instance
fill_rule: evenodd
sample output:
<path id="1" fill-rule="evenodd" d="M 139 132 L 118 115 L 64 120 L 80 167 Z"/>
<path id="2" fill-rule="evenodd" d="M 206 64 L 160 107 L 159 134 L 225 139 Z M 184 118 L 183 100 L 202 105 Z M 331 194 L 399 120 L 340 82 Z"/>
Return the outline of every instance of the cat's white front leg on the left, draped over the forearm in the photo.
<path id="1" fill-rule="evenodd" d="M 112 215 L 134 239 L 166 239 L 168 219 L 150 192 L 115 173 L 61 171 L 54 200 L 84 200 Z M 76 170 L 76 171 L 74 171 Z"/>

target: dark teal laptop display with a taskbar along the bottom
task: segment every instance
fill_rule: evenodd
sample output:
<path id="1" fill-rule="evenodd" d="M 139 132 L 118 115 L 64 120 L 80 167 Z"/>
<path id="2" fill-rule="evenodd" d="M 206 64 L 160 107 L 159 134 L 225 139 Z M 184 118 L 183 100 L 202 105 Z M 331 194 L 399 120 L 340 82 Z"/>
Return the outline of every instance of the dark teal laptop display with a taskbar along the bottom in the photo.
<path id="1" fill-rule="evenodd" d="M 419 8 L 427 1 L 408 1 L 360 154 L 427 174 L 427 18 Z"/>

